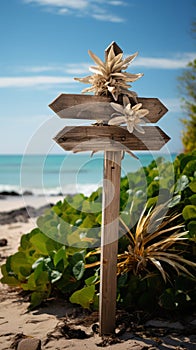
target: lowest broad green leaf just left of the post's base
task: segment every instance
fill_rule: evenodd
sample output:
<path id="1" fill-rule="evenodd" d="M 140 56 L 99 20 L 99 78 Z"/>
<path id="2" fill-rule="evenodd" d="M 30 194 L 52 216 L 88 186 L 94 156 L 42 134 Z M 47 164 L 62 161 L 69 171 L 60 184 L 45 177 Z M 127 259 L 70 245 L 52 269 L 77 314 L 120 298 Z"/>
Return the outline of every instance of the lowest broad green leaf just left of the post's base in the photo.
<path id="1" fill-rule="evenodd" d="M 73 304 L 79 304 L 84 309 L 90 309 L 90 305 L 93 303 L 95 296 L 95 286 L 87 286 L 74 292 L 70 297 L 70 302 Z"/>

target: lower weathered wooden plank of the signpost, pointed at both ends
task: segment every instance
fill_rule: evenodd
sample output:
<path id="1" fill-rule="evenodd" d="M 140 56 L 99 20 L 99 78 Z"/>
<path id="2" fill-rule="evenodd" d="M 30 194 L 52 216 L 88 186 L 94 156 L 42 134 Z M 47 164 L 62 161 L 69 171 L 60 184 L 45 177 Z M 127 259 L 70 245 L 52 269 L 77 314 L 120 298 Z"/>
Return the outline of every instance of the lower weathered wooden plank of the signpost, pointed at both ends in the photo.
<path id="1" fill-rule="evenodd" d="M 62 129 L 54 140 L 66 151 L 101 150 L 159 150 L 170 137 L 158 126 L 144 126 L 145 134 L 119 126 L 69 126 Z"/>

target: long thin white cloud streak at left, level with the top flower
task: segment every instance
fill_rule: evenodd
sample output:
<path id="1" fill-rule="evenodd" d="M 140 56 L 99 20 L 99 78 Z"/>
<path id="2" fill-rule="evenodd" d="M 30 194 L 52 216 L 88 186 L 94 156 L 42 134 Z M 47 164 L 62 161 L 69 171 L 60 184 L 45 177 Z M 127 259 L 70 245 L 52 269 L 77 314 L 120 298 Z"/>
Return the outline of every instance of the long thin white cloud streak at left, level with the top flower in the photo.
<path id="1" fill-rule="evenodd" d="M 71 77 L 32 76 L 32 77 L 0 77 L 0 88 L 35 87 L 43 85 L 59 85 L 73 83 Z"/>

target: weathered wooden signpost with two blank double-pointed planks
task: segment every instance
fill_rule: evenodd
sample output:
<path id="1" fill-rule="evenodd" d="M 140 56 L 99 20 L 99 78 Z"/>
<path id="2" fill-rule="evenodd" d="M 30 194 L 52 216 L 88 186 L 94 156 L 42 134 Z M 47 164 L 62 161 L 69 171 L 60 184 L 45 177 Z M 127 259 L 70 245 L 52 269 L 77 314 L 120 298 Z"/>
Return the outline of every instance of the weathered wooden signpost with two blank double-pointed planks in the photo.
<path id="1" fill-rule="evenodd" d="M 111 45 L 116 54 L 122 52 L 116 43 Z M 170 140 L 157 126 L 145 126 L 141 134 L 138 131 L 130 133 L 126 127 L 107 125 L 114 112 L 111 101 L 112 98 L 107 96 L 61 94 L 49 105 L 61 118 L 102 120 L 98 125 L 65 127 L 54 138 L 66 151 L 104 151 L 99 298 L 101 336 L 115 331 L 122 151 L 159 150 Z M 137 103 L 142 103 L 142 108 L 148 109 L 148 123 L 157 122 L 167 112 L 157 98 L 138 97 Z"/>

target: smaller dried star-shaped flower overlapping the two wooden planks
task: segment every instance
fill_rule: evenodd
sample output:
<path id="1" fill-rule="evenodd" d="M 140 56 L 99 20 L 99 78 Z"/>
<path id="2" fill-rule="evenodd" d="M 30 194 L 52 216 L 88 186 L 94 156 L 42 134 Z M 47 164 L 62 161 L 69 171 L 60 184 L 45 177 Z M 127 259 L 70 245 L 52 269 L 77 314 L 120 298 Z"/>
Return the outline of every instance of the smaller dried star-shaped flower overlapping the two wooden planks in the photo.
<path id="1" fill-rule="evenodd" d="M 141 103 L 137 103 L 135 106 L 131 107 L 129 98 L 124 95 L 123 106 L 114 102 L 111 102 L 110 105 L 117 113 L 115 112 L 111 115 L 112 119 L 109 120 L 109 125 L 121 125 L 126 123 L 127 130 L 130 133 L 132 133 L 134 129 L 142 134 L 145 133 L 144 129 L 139 124 L 141 123 L 141 119 L 145 117 L 149 111 L 148 109 L 142 109 Z M 114 117 L 116 115 L 117 117 Z M 145 121 L 142 120 L 142 123 L 144 124 Z"/>

